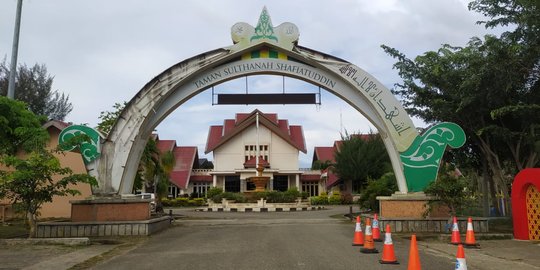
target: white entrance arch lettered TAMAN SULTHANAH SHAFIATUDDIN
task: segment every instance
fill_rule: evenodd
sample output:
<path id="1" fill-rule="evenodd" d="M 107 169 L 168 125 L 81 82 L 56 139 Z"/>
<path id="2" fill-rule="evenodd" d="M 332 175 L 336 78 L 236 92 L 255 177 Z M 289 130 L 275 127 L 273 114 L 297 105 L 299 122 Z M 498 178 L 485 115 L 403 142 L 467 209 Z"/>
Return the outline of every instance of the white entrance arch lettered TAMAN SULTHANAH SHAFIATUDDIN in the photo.
<path id="1" fill-rule="evenodd" d="M 405 160 L 417 163 L 436 158 L 431 145 L 427 152 L 421 149 L 426 148 L 421 147 L 423 143 L 433 141 L 433 136 L 419 136 L 407 112 L 382 83 L 347 61 L 298 46 L 298 28 L 292 23 L 273 27 L 266 9 L 263 9 L 256 27 L 237 23 L 232 27 L 231 35 L 233 46 L 209 51 L 170 67 L 131 99 L 102 141 L 100 157 L 87 166 L 100 184 L 94 193 L 131 193 L 147 140 L 167 115 L 213 85 L 257 74 L 304 80 L 345 100 L 378 129 L 399 191 L 407 193 L 411 187 L 418 191 L 417 186 L 411 185 L 412 179 L 406 179 L 406 167 L 416 165 L 411 167 Z M 448 133 L 452 128 L 430 130 L 441 137 L 441 132 Z M 436 143 L 443 151 L 446 144 L 453 147 L 459 144 L 452 145 L 451 142 L 456 141 L 456 132 L 452 130 L 450 133 L 451 136 L 443 136 L 443 142 L 439 140 Z M 403 153 L 407 154 L 404 156 Z M 440 157 L 436 160 L 436 171 L 439 162 Z"/>

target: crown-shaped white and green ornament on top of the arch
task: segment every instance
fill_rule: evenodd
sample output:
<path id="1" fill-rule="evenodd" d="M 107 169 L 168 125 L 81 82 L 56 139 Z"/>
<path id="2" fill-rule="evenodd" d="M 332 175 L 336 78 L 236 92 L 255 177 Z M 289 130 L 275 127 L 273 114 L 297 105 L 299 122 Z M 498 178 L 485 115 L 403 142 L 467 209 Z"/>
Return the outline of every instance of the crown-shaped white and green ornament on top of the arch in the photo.
<path id="1" fill-rule="evenodd" d="M 239 22 L 232 26 L 231 37 L 234 45 L 228 49 L 240 51 L 261 43 L 270 43 L 286 50 L 292 50 L 298 43 L 300 32 L 293 23 L 285 22 L 277 27 L 272 25 L 272 19 L 266 7 L 263 7 L 256 27 Z"/>

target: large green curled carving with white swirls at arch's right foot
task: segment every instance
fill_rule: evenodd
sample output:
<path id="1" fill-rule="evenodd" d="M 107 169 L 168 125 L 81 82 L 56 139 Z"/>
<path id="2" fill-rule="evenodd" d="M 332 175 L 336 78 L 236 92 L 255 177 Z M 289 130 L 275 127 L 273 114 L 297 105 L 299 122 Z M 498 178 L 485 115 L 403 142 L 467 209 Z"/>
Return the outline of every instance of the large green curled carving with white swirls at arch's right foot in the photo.
<path id="1" fill-rule="evenodd" d="M 454 123 L 439 123 L 416 137 L 409 149 L 400 153 L 409 192 L 423 191 L 437 179 L 446 146 L 465 144 L 465 132 Z"/>

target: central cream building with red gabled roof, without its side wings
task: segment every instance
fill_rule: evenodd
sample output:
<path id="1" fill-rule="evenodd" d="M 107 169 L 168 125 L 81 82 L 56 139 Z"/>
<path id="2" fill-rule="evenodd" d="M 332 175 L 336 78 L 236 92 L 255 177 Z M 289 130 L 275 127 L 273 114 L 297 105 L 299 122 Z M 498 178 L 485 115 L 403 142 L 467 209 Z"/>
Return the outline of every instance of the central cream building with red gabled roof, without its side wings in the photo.
<path id="1" fill-rule="evenodd" d="M 310 186 L 321 186 L 320 172 L 299 168 L 299 153 L 307 152 L 302 126 L 290 125 L 275 113 L 237 113 L 234 119 L 225 119 L 223 125 L 211 126 L 205 149 L 205 153 L 210 152 L 214 159 L 214 169 L 209 172 L 212 185 L 225 191 L 253 190 L 247 180 L 256 175 L 259 164 L 265 168 L 263 175 L 270 177 L 268 190 L 295 187 L 319 195 L 320 189 Z"/>

